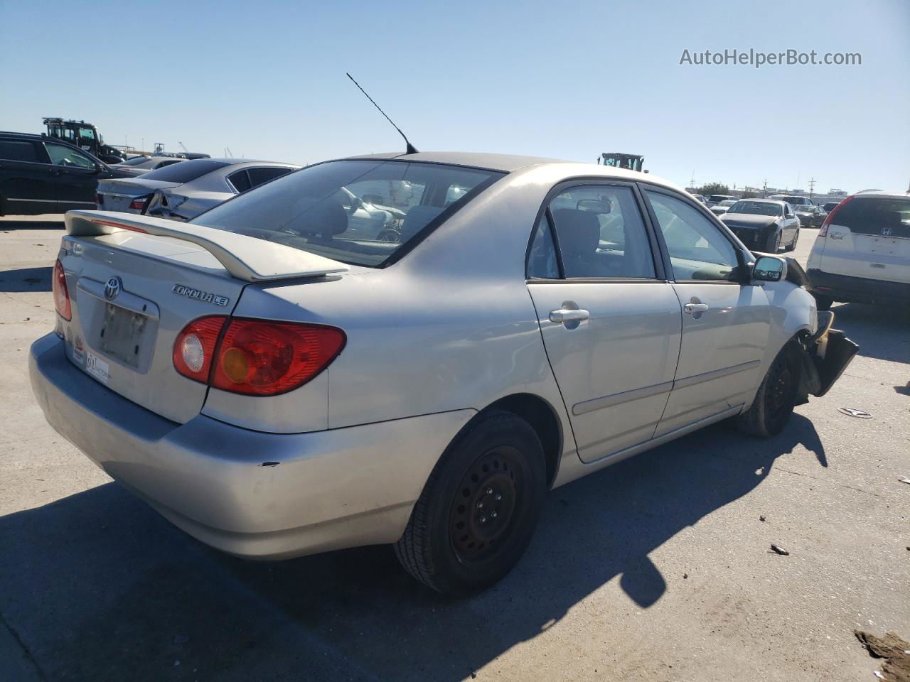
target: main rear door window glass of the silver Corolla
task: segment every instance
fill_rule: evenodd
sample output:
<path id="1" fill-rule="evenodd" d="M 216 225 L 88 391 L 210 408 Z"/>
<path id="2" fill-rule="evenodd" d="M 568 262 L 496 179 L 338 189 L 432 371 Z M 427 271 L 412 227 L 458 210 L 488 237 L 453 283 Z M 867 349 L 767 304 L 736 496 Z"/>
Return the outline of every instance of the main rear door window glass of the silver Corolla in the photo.
<path id="1" fill-rule="evenodd" d="M 567 278 L 656 276 L 651 245 L 630 187 L 572 187 L 553 198 L 550 213 Z"/>

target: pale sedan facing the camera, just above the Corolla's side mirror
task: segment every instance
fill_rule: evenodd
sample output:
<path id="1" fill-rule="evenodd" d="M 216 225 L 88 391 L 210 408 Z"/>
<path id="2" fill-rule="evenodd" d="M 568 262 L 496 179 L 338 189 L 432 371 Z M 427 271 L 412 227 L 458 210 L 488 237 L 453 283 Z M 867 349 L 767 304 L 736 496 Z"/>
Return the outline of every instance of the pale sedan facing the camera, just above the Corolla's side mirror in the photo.
<path id="1" fill-rule="evenodd" d="M 741 199 L 721 220 L 744 245 L 769 254 L 776 254 L 781 246 L 793 251 L 799 241 L 799 218 L 785 201 Z"/>

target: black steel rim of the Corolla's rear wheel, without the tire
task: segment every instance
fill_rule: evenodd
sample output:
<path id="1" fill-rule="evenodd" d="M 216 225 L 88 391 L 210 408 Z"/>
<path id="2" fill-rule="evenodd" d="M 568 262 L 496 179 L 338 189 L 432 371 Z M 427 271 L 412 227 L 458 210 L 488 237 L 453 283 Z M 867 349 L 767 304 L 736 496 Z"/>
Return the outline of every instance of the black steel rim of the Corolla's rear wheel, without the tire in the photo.
<path id="1" fill-rule="evenodd" d="M 462 564 L 478 563 L 505 544 L 521 501 L 521 453 L 497 446 L 462 477 L 450 510 L 451 546 Z"/>

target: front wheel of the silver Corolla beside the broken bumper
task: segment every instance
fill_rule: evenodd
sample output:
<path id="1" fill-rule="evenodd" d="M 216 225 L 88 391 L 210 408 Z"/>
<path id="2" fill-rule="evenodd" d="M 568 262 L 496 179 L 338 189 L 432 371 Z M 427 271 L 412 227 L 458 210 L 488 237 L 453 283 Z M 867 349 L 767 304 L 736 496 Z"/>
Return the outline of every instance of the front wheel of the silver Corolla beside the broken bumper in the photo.
<path id="1" fill-rule="evenodd" d="M 793 346 L 781 349 L 768 367 L 749 409 L 736 417 L 736 426 L 751 436 L 767 438 L 784 430 L 796 404 L 800 367 Z"/>

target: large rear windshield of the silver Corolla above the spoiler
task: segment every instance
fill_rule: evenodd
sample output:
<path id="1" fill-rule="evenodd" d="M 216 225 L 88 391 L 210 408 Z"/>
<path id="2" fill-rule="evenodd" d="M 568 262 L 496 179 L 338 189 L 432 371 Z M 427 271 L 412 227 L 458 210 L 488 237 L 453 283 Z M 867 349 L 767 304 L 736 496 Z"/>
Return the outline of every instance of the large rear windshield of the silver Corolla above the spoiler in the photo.
<path id="1" fill-rule="evenodd" d="M 434 218 L 450 216 L 502 175 L 406 161 L 330 161 L 279 177 L 191 222 L 381 267 Z"/>

